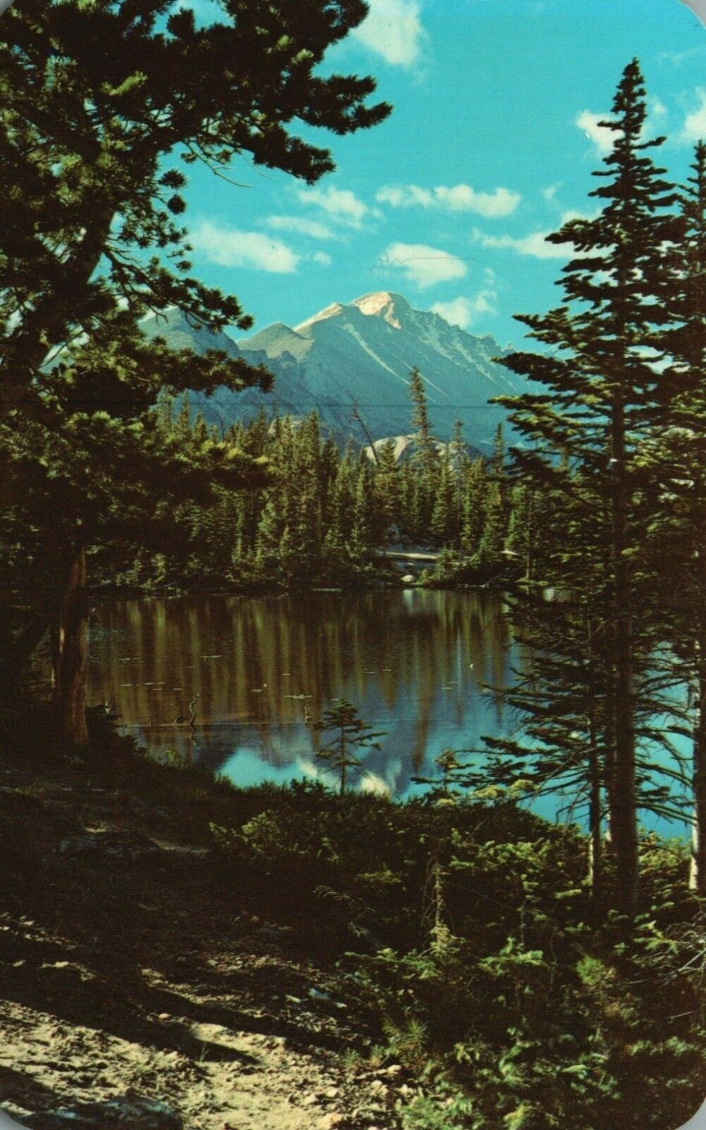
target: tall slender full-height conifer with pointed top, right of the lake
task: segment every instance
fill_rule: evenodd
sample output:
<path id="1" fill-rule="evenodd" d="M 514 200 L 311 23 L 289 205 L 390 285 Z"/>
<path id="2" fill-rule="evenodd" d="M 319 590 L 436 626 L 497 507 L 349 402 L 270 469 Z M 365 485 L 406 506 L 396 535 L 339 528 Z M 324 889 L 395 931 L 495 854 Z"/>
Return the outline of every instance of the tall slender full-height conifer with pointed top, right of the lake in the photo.
<path id="1" fill-rule="evenodd" d="M 605 183 L 591 195 L 602 202 L 595 219 L 576 219 L 550 236 L 569 243 L 576 258 L 564 269 L 567 305 L 546 316 L 520 320 L 538 340 L 558 346 L 557 356 L 514 354 L 505 360 L 547 386 L 547 393 L 513 402 L 513 423 L 547 452 L 565 454 L 586 472 L 604 497 L 610 524 L 610 603 L 604 621 L 612 626 L 609 734 L 610 827 L 619 887 L 618 909 L 628 918 L 637 902 L 637 794 L 635 734 L 636 626 L 630 551 L 640 531 L 631 522 L 635 451 L 655 419 L 659 374 L 650 347 L 670 319 L 665 246 L 678 233 L 670 211 L 676 194 L 662 180 L 647 150 L 664 140 L 644 140 L 645 92 L 636 60 L 626 67 L 612 106 L 602 123 L 611 131 Z M 643 531 L 644 532 L 644 531 Z"/>

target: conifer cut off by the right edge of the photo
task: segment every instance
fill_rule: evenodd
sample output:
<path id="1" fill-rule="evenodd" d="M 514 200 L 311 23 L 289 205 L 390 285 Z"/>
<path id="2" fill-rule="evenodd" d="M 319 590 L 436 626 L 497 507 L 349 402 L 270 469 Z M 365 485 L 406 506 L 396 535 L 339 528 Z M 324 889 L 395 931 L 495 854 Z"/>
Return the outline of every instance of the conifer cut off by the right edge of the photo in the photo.
<path id="1" fill-rule="evenodd" d="M 681 198 L 683 234 L 671 249 L 673 325 L 663 336 L 670 365 L 665 425 L 645 445 L 652 483 L 648 545 L 664 637 L 694 703 L 692 886 L 706 895 L 706 146 Z M 679 725 L 678 720 L 678 725 Z M 681 722 L 681 725 L 685 723 Z"/>

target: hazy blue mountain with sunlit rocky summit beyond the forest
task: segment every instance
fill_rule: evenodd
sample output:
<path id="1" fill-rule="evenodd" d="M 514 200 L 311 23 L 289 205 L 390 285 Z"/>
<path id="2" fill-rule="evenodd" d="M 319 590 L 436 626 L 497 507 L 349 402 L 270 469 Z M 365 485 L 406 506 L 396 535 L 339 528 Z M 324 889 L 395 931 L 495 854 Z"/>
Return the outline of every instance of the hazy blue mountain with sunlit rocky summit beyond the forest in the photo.
<path id="1" fill-rule="evenodd" d="M 489 406 L 491 397 L 521 390 L 520 380 L 494 362 L 504 350 L 493 337 L 476 337 L 450 325 L 438 314 L 413 310 L 401 295 L 376 292 L 351 303 L 333 303 L 294 329 L 276 322 L 237 342 L 227 334 L 194 325 L 174 310 L 143 323 L 145 332 L 171 345 L 190 345 L 198 353 L 223 348 L 274 373 L 274 388 L 241 393 L 219 389 L 193 403 L 209 421 L 232 423 L 268 412 L 306 416 L 315 408 L 337 436 L 366 443 L 352 415 L 357 405 L 373 440 L 404 435 L 410 429 L 409 372 L 421 373 L 435 435 L 451 438 L 461 419 L 469 444 L 489 450 L 493 433 L 505 412 Z"/>

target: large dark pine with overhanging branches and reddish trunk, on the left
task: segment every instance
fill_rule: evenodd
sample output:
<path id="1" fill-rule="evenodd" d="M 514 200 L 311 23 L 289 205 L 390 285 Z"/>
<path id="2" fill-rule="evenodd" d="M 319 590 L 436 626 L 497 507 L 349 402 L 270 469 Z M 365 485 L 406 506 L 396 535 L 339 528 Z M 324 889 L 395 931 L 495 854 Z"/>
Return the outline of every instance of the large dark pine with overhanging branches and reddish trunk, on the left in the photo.
<path id="1" fill-rule="evenodd" d="M 0 159 L 12 201 L 0 231 L 0 475 L 8 508 L 17 502 L 29 540 L 38 522 L 51 560 L 11 640 L 18 660 L 36 623 L 62 641 L 55 696 L 69 744 L 86 740 L 86 551 L 97 530 L 119 516 L 132 533 L 156 519 L 164 530 L 164 504 L 168 513 L 180 496 L 261 478 L 229 443 L 209 437 L 188 461 L 155 441 L 163 388 L 271 380 L 242 358 L 142 340 L 141 316 L 174 304 L 209 329 L 251 324 L 235 298 L 190 273 L 174 162 L 221 172 L 247 153 L 313 183 L 331 156 L 290 122 L 349 133 L 389 112 L 366 104 L 372 79 L 319 72 L 326 47 L 364 18 L 361 0 L 244 0 L 199 28 L 193 11 L 168 7 L 26 0 L 0 24 Z M 23 600 L 29 574 L 12 580 Z"/>

